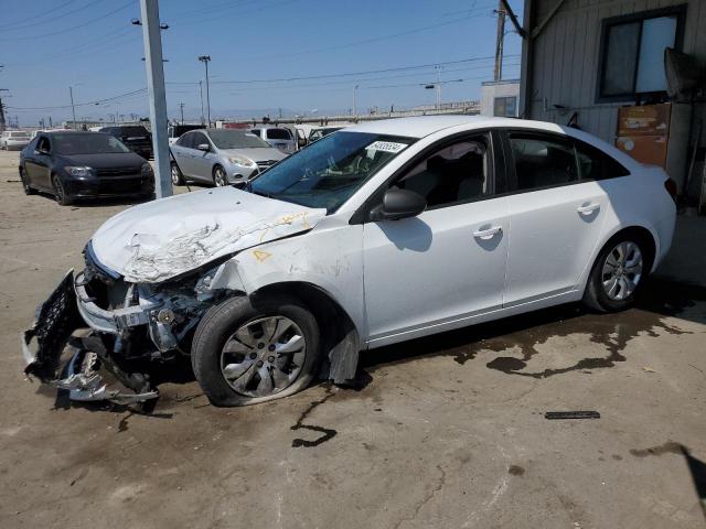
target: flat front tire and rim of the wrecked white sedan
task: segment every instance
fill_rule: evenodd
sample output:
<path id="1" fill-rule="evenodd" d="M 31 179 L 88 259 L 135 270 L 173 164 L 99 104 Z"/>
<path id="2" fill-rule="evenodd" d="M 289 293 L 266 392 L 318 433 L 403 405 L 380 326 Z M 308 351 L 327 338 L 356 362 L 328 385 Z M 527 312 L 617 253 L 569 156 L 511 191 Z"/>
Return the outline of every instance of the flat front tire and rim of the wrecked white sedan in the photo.
<path id="1" fill-rule="evenodd" d="M 231 298 L 212 307 L 192 345 L 194 375 L 214 406 L 247 406 L 309 386 L 319 364 L 319 325 L 299 301 Z"/>

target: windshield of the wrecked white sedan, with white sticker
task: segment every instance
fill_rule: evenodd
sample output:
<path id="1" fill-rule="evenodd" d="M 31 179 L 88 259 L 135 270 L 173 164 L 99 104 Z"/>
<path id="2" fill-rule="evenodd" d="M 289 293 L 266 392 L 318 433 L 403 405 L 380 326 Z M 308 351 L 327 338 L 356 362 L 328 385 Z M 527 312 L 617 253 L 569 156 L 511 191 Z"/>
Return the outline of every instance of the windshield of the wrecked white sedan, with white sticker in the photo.
<path id="1" fill-rule="evenodd" d="M 286 158 L 250 184 L 278 201 L 335 212 L 373 174 L 414 140 L 365 132 L 335 132 Z"/>

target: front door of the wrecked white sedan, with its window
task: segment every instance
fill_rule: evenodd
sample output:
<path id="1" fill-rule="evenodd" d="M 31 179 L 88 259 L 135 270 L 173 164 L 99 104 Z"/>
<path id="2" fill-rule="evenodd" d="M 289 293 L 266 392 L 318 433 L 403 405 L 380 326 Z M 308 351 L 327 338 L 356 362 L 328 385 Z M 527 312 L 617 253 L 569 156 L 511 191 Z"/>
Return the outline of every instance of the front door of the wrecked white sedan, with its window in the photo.
<path id="1" fill-rule="evenodd" d="M 437 143 L 391 183 L 424 196 L 427 209 L 365 223 L 372 346 L 462 326 L 501 309 L 509 222 L 507 198 L 499 196 L 504 183 L 495 179 L 503 174 L 493 149 L 499 138 L 474 133 Z"/>

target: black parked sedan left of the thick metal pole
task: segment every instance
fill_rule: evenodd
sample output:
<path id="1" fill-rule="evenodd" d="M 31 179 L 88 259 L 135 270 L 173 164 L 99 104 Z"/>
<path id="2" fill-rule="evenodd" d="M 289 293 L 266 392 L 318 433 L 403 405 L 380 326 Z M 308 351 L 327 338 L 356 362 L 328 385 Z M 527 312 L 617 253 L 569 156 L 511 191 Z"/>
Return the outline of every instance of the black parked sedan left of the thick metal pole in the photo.
<path id="1" fill-rule="evenodd" d="M 78 198 L 151 196 L 152 166 L 103 132 L 42 132 L 20 153 L 28 195 L 51 193 L 62 206 Z"/>

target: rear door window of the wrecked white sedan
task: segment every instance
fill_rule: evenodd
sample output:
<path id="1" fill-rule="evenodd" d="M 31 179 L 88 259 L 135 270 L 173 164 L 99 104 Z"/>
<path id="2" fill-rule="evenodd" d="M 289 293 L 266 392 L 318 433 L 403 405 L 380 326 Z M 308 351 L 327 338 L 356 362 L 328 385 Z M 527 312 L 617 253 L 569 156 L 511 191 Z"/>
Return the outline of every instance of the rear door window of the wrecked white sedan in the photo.
<path id="1" fill-rule="evenodd" d="M 578 181 L 574 142 L 561 138 L 511 133 L 517 190 L 536 190 Z"/>

